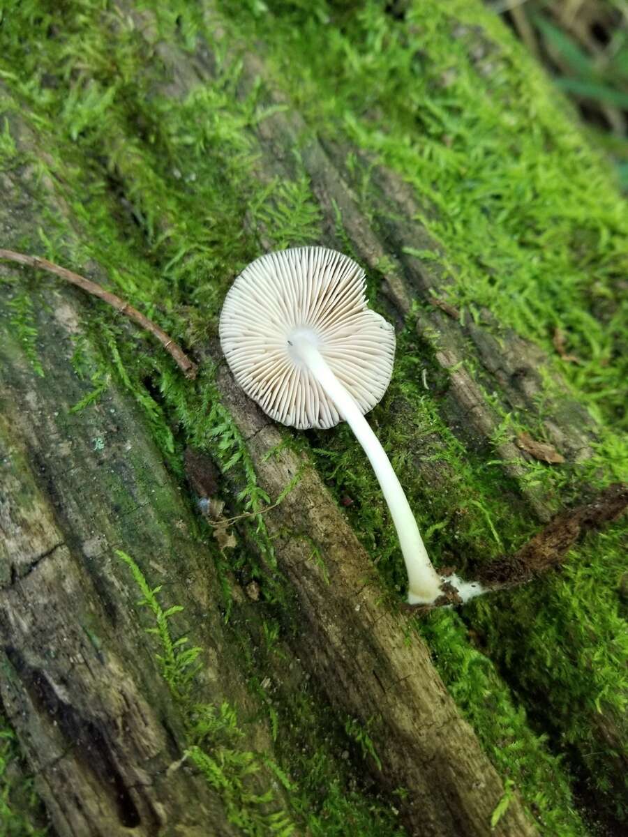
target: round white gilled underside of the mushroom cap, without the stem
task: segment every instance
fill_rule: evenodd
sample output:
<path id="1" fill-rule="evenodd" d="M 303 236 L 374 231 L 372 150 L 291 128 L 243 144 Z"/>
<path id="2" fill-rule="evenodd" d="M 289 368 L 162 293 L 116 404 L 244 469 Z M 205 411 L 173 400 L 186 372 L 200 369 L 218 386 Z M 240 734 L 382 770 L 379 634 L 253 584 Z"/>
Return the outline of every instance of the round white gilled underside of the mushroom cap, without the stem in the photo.
<path id="1" fill-rule="evenodd" d="M 305 336 L 367 413 L 393 372 L 394 328 L 368 308 L 364 271 L 325 247 L 260 256 L 234 280 L 220 313 L 220 343 L 236 381 L 275 421 L 330 428 L 336 407 L 295 352 Z"/>

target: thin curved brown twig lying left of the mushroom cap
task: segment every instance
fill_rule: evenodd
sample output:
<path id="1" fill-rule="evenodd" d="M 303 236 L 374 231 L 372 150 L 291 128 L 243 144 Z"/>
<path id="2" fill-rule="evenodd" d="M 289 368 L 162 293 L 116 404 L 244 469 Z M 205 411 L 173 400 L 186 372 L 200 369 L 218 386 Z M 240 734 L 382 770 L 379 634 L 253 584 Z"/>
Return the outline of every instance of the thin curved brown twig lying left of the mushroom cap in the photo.
<path id="1" fill-rule="evenodd" d="M 50 262 L 48 259 L 41 259 L 39 256 L 29 256 L 23 253 L 15 253 L 13 250 L 0 249 L 0 259 L 7 259 L 8 261 L 17 262 L 18 264 L 25 264 L 27 267 L 48 270 L 49 273 L 54 273 L 55 276 L 59 276 L 60 279 L 69 282 L 70 285 L 76 285 L 81 290 L 85 290 L 86 293 L 92 296 L 97 296 L 99 300 L 102 300 L 103 302 L 106 302 L 107 305 L 115 308 L 119 314 L 123 314 L 130 320 L 135 321 L 138 326 L 142 326 L 142 328 L 146 329 L 146 331 L 150 331 L 153 336 L 157 337 L 157 340 L 172 357 L 185 377 L 196 377 L 198 372 L 196 363 L 193 363 L 189 359 L 185 352 L 183 352 L 183 349 L 178 346 L 178 343 L 175 343 L 171 336 L 167 335 L 165 331 L 162 331 L 162 329 L 149 320 L 147 316 L 144 316 L 141 311 L 137 311 L 136 308 L 129 305 L 128 302 L 122 300 L 119 296 L 116 296 L 116 294 L 112 294 L 109 290 L 105 290 L 100 287 L 100 285 L 97 285 L 95 282 L 91 282 L 89 279 L 85 279 L 84 276 L 80 276 L 78 273 L 73 273 L 71 270 L 59 267 L 59 264 L 54 264 L 54 262 Z"/>

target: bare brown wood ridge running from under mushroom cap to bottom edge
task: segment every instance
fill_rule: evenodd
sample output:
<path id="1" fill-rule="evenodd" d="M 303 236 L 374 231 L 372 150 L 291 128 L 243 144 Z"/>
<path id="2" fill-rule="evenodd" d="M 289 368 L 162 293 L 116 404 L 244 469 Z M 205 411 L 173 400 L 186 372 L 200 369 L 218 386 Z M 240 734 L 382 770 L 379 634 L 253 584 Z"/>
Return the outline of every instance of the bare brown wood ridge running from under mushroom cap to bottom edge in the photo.
<path id="1" fill-rule="evenodd" d="M 281 434 L 225 367 L 219 388 L 249 439 L 261 485 L 278 495 L 303 462 L 288 449 L 266 456 L 278 448 Z M 308 661 L 332 706 L 363 723 L 375 719 L 378 781 L 389 791 L 407 788 L 407 798 L 396 804 L 410 833 L 535 834 L 517 799 L 491 829 L 503 793 L 497 773 L 447 694 L 425 644 L 405 643 L 403 616 L 380 603 L 368 556 L 316 471 L 303 469 L 266 521 L 298 598 L 303 629 L 291 647 Z M 299 532 L 307 538 L 295 537 Z M 320 548 L 325 571 L 311 559 L 312 543 Z"/>

